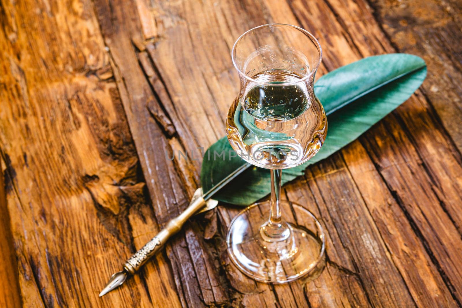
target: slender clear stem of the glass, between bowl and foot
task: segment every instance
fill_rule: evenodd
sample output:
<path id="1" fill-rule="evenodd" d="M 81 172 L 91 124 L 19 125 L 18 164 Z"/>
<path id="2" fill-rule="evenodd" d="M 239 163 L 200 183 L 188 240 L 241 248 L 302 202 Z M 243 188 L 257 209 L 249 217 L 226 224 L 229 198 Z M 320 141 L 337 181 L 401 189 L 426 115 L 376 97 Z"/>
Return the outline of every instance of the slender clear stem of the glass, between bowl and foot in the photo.
<path id="1" fill-rule="evenodd" d="M 280 209 L 281 169 L 271 170 L 271 201 L 269 219 L 260 228 L 262 238 L 267 242 L 284 241 L 291 234 L 287 224 L 282 220 Z"/>

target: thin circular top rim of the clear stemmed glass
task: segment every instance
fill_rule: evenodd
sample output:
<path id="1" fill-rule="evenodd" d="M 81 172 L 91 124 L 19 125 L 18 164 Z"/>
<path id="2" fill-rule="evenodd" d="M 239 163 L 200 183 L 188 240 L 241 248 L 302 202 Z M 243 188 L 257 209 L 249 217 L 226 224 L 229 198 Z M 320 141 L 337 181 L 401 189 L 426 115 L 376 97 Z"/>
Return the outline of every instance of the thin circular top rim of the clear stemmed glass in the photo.
<path id="1" fill-rule="evenodd" d="M 247 76 L 245 74 L 245 72 L 241 71 L 241 69 L 239 69 L 237 67 L 237 64 L 236 64 L 236 59 L 234 57 L 234 54 L 235 54 L 235 51 L 236 51 L 236 47 L 237 47 L 237 43 L 245 36 L 247 35 L 250 31 L 253 31 L 253 30 L 256 30 L 256 29 L 259 29 L 259 28 L 264 28 L 264 27 L 270 27 L 270 26 L 288 26 L 290 28 L 293 28 L 293 29 L 296 29 L 296 30 L 299 30 L 301 31 L 302 33 L 304 33 L 306 36 L 308 36 L 311 41 L 315 44 L 316 48 L 318 49 L 319 51 L 319 60 L 316 64 L 315 67 L 313 67 L 313 69 L 311 70 L 311 72 L 307 75 L 305 75 L 304 77 L 300 78 L 300 79 L 297 79 L 296 81 L 292 81 L 292 82 L 285 82 L 285 83 L 280 83 L 280 84 L 270 84 L 270 83 L 266 83 L 266 82 L 261 82 L 261 81 L 257 81 L 249 76 Z M 303 28 L 300 28 L 298 26 L 295 26 L 293 24 L 280 24 L 280 23 L 275 23 L 275 24 L 262 24 L 260 26 L 256 26 L 252 29 L 249 29 L 247 31 L 245 31 L 241 36 L 239 36 L 236 40 L 236 42 L 234 42 L 234 45 L 232 46 L 231 48 L 231 60 L 232 60 L 232 64 L 234 66 L 234 68 L 236 68 L 237 72 L 239 73 L 239 75 L 241 75 L 243 78 L 251 81 L 251 82 L 255 82 L 256 84 L 260 84 L 260 85 L 270 85 L 270 86 L 286 86 L 286 85 L 296 85 L 300 82 L 303 82 L 305 81 L 306 79 L 309 79 L 318 69 L 319 65 L 321 64 L 322 62 L 322 48 L 321 48 L 321 45 L 319 44 L 318 40 L 316 39 L 315 36 L 313 36 L 310 32 L 308 32 L 307 30 L 303 29 Z"/>

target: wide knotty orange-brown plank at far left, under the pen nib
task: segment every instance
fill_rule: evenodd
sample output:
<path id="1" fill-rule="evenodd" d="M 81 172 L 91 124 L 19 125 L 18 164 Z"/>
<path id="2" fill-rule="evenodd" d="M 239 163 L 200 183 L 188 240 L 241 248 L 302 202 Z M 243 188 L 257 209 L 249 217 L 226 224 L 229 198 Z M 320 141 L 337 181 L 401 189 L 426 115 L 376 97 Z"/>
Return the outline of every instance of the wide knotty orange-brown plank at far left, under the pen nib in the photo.
<path id="1" fill-rule="evenodd" d="M 157 224 L 91 2 L 1 7 L 0 147 L 24 306 L 180 306 L 163 255 L 98 297 Z"/>

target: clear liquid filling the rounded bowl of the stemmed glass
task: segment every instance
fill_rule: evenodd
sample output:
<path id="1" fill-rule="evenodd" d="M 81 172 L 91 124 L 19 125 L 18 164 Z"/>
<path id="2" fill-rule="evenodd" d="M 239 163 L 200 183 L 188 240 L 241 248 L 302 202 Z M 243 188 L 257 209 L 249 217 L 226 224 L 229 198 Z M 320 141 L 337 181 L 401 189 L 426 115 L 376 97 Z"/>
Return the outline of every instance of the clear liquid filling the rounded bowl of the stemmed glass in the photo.
<path id="1" fill-rule="evenodd" d="M 321 148 L 327 119 L 313 86 L 286 70 L 258 73 L 233 102 L 226 119 L 231 147 L 247 162 L 286 169 L 306 162 Z M 310 82 L 310 81 L 309 81 Z M 291 83 L 292 85 L 280 85 Z"/>

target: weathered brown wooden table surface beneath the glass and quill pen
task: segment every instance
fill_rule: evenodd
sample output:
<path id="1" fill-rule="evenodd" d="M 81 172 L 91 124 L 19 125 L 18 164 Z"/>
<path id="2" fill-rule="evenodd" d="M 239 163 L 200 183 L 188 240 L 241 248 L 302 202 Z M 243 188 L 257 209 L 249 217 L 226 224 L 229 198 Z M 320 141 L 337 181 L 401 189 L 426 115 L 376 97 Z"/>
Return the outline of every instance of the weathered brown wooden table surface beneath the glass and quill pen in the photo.
<path id="1" fill-rule="evenodd" d="M 457 307 L 462 303 L 459 0 L 2 0 L 0 306 Z M 423 57 L 401 107 L 283 187 L 327 231 L 315 277 L 255 283 L 231 265 L 238 209 L 192 219 L 134 279 L 109 275 L 200 186 L 239 86 L 245 30 L 302 26 L 318 76 L 365 56 Z M 197 156 L 196 156 L 197 157 Z M 3 189 L 5 188 L 5 189 Z"/>

